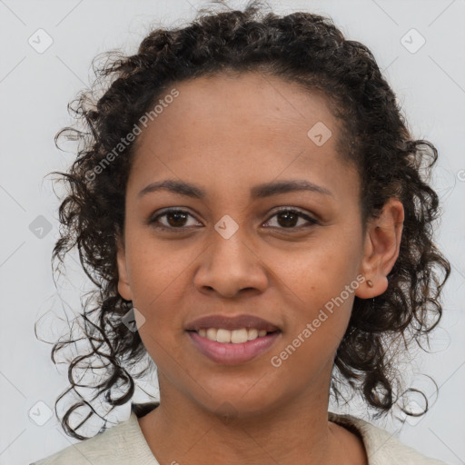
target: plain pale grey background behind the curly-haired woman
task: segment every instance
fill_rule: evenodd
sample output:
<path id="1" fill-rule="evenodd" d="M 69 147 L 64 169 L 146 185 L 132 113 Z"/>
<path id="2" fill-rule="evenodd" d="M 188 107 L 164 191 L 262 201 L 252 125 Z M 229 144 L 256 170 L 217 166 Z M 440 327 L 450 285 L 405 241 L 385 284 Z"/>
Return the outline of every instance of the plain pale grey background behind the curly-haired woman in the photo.
<path id="1" fill-rule="evenodd" d="M 437 230 L 452 274 L 443 293 L 440 330 L 431 347 L 435 353 L 420 352 L 411 365 L 419 373 L 413 376 L 412 386 L 431 392 L 432 407 L 419 422 L 373 423 L 425 455 L 450 464 L 465 463 L 465 3 L 269 3 L 276 12 L 302 9 L 330 15 L 348 38 L 368 45 L 398 94 L 414 136 L 439 149 L 432 180 L 443 209 Z M 75 442 L 54 415 L 40 426 L 31 413 L 45 420 L 47 409 L 54 409 L 54 401 L 68 386 L 66 366 L 55 367 L 50 360 L 52 345 L 38 341 L 34 331 L 41 317 L 40 335 L 47 341 L 56 341 L 67 331 L 50 266 L 58 201 L 51 178 L 44 178 L 73 161 L 72 153 L 54 147 L 54 134 L 70 123 L 66 104 L 89 84 L 89 77 L 92 80 L 90 64 L 96 54 L 115 47 L 135 53 L 152 22 L 182 25 L 203 5 L 207 3 L 194 0 L 0 0 L 2 465 L 30 463 Z M 38 29 L 45 33 L 37 33 Z M 29 43 L 31 37 L 35 47 Z M 37 50 L 47 40 L 53 40 L 52 45 Z M 71 312 L 79 312 L 79 295 L 88 285 L 75 263 L 68 279 L 58 291 Z M 437 381 L 437 401 L 431 383 L 420 373 Z M 150 381 L 143 388 L 156 394 Z M 355 401 L 341 411 L 362 418 L 366 413 Z M 112 418 L 128 416 L 129 405 Z"/>

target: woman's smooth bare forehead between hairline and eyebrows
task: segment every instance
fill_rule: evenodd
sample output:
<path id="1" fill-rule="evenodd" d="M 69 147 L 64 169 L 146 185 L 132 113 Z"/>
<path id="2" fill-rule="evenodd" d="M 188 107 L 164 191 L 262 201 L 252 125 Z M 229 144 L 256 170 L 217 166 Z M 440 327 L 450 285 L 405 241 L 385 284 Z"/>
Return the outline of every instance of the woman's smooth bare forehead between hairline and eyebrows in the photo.
<path id="1" fill-rule="evenodd" d="M 178 96 L 137 140 L 132 171 L 146 181 L 209 174 L 212 182 L 252 183 L 281 173 L 322 183 L 324 175 L 336 182 L 347 175 L 337 152 L 340 122 L 324 95 L 259 73 L 200 77 L 173 88 Z"/>

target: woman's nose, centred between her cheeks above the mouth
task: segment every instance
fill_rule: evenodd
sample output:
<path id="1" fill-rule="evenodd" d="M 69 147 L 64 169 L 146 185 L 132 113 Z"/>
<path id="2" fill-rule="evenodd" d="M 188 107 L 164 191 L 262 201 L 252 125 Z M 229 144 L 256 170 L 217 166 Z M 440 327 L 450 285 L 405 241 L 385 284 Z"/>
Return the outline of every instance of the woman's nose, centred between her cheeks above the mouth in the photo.
<path id="1" fill-rule="evenodd" d="M 193 279 L 199 292 L 216 292 L 229 299 L 242 292 L 264 292 L 268 285 L 265 257 L 259 255 L 243 229 L 229 238 L 213 230 Z"/>

